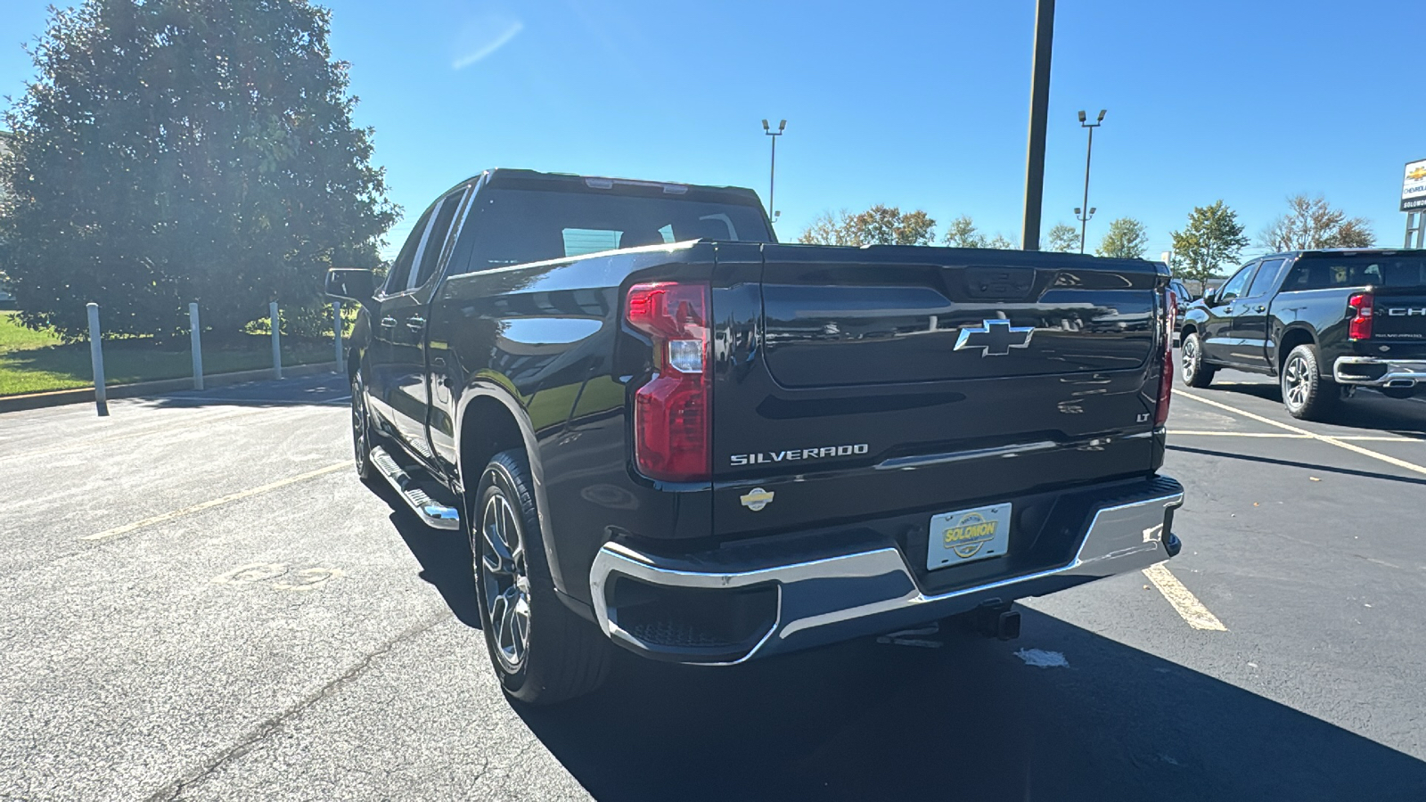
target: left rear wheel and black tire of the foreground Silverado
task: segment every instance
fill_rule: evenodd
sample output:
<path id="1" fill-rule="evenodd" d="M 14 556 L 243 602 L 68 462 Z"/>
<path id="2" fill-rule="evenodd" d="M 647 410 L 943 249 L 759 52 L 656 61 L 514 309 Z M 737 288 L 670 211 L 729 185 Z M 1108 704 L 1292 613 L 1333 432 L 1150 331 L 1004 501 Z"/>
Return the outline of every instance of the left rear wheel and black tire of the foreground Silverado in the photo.
<path id="1" fill-rule="evenodd" d="M 466 529 L 481 629 L 505 692 L 550 705 L 599 688 L 613 645 L 555 597 L 525 452 L 496 454 L 476 487 Z"/>

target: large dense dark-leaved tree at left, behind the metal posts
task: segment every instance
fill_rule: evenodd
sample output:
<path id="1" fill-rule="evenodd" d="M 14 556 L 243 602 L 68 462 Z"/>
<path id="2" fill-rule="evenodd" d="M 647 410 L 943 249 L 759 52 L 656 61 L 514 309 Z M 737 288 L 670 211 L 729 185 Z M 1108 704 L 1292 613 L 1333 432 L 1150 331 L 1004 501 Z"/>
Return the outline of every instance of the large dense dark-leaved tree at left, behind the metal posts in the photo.
<path id="1" fill-rule="evenodd" d="M 379 263 L 396 218 L 308 0 L 84 0 L 53 10 L 6 113 L 0 270 L 21 320 L 78 337 L 319 313 L 328 265 Z"/>

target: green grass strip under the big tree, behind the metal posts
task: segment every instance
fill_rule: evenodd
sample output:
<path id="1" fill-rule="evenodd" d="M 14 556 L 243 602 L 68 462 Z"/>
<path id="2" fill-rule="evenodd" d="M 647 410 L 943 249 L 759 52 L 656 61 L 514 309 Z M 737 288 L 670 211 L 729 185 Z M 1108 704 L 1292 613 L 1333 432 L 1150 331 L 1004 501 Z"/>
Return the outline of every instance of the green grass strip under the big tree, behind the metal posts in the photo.
<path id="1" fill-rule="evenodd" d="M 282 338 L 282 364 L 307 365 L 332 361 L 331 340 Z M 242 335 L 224 347 L 204 345 L 205 375 L 272 367 L 272 341 Z M 133 337 L 104 342 L 104 381 L 130 384 L 193 375 L 188 344 L 160 344 Z M 47 331 L 31 331 L 0 311 L 0 395 L 93 387 L 88 342 L 61 342 Z"/>

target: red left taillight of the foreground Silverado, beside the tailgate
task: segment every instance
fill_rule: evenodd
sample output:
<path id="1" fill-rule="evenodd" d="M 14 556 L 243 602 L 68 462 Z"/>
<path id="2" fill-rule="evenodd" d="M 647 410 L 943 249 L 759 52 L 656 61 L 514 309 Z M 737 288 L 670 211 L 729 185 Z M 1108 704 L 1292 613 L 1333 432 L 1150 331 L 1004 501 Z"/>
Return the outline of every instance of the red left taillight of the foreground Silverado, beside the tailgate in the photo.
<path id="1" fill-rule="evenodd" d="M 707 284 L 635 284 L 625 318 L 653 340 L 653 378 L 633 394 L 639 472 L 670 482 L 712 475 Z"/>

